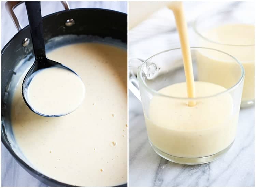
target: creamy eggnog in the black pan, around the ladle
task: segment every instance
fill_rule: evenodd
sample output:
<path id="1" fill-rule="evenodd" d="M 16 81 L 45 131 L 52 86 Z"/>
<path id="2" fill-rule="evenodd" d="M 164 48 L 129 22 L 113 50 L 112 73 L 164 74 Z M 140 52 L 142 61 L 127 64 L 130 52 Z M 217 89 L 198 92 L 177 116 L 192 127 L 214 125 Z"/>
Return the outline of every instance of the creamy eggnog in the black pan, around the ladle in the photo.
<path id="1" fill-rule="evenodd" d="M 127 52 L 80 43 L 47 57 L 80 75 L 86 97 L 73 113 L 43 117 L 23 101 L 21 82 L 12 100 L 15 139 L 32 166 L 44 175 L 77 186 L 127 182 Z M 25 76 L 25 75 L 24 75 Z"/>

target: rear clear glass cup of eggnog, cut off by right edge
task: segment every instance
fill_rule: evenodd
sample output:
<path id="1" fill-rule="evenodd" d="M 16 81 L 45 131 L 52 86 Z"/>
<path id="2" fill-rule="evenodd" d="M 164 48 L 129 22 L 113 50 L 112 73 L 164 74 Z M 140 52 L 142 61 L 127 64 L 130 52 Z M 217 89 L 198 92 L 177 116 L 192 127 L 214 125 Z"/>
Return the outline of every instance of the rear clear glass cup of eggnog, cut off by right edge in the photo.
<path id="1" fill-rule="evenodd" d="M 241 107 L 249 107 L 254 105 L 254 37 L 252 40 L 246 39 L 248 33 L 242 30 L 244 32 L 242 37 L 234 35 L 232 42 L 225 43 L 225 38 L 219 37 L 215 30 L 217 27 L 230 25 L 228 31 L 230 36 L 232 36 L 232 34 L 238 32 L 238 29 L 235 31 L 236 27 L 232 26 L 241 24 L 244 27 L 254 28 L 254 10 L 232 9 L 210 14 L 207 13 L 199 16 L 195 20 L 193 28 L 195 31 L 196 46 L 221 50 L 236 57 L 242 63 L 245 70 L 245 80 Z M 242 39 L 243 43 L 241 41 L 238 43 L 236 38 Z M 209 61 L 208 67 L 211 68 L 201 70 L 202 74 L 198 76 L 204 81 L 214 82 L 216 84 L 222 83 L 226 79 L 225 72 L 229 72 L 229 64 L 225 57 L 219 57 L 216 61 Z M 223 74 L 219 74 L 219 78 L 215 79 L 214 75 L 218 74 L 219 70 L 222 70 Z M 226 82 L 229 82 L 229 80 L 226 80 Z"/>

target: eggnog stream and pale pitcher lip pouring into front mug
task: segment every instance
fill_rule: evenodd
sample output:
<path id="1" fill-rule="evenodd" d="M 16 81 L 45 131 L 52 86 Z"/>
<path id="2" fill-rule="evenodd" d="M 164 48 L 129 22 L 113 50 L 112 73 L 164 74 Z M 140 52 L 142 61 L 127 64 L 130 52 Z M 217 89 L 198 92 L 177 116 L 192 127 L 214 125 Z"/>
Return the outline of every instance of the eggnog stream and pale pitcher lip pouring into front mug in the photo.
<path id="1" fill-rule="evenodd" d="M 129 3 L 129 29 L 138 25 L 153 12 L 167 6 L 173 11 L 176 20 L 176 26 L 179 33 L 184 71 L 186 76 L 187 97 L 195 98 L 195 82 L 192 67 L 191 51 L 188 40 L 187 23 L 184 14 L 182 2 L 130 2 Z M 140 9 L 143 7 L 143 10 Z M 137 14 L 136 14 L 137 13 Z M 188 106 L 195 106 L 195 101 L 188 101 Z"/>

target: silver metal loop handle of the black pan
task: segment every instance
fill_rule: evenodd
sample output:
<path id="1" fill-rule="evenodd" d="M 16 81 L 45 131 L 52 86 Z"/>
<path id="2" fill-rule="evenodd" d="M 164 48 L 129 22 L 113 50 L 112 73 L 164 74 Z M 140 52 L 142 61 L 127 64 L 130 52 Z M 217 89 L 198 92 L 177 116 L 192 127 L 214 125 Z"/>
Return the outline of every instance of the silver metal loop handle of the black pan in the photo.
<path id="1" fill-rule="evenodd" d="M 22 26 L 20 25 L 19 23 L 19 20 L 18 18 L 16 17 L 15 13 L 14 13 L 14 9 L 19 5 L 23 3 L 22 1 L 7 1 L 5 3 L 5 8 L 8 12 L 8 14 L 11 16 L 12 20 L 13 20 L 13 23 L 14 25 L 16 26 L 17 30 L 20 31 L 22 30 Z M 65 10 L 69 10 L 70 7 L 69 7 L 69 4 L 67 1 L 61 1 L 62 5 L 64 6 L 64 9 Z"/>

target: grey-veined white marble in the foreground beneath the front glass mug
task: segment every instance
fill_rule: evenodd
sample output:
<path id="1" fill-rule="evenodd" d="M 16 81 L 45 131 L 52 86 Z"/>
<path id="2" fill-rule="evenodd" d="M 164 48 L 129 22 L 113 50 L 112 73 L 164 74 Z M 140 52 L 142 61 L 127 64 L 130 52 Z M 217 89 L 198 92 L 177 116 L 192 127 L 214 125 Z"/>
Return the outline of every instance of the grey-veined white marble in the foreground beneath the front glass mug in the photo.
<path id="1" fill-rule="evenodd" d="M 140 101 L 129 92 L 129 186 L 254 186 L 254 107 L 241 109 L 236 140 L 216 161 L 176 164 L 148 139 Z"/>

